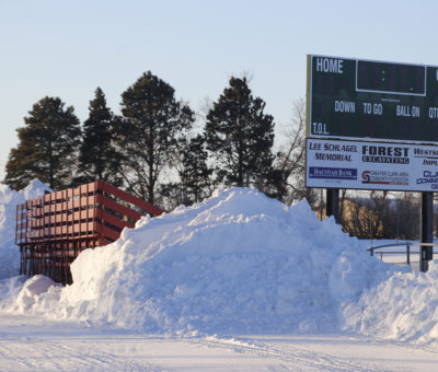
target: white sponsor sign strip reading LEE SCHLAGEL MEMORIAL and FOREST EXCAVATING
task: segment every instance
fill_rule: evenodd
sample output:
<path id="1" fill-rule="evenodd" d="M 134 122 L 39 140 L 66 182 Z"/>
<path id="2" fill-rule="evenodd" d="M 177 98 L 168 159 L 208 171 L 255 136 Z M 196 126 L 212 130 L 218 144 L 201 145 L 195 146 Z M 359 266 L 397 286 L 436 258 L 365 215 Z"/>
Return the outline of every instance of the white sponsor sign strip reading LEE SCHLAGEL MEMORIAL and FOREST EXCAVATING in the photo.
<path id="1" fill-rule="evenodd" d="M 308 138 L 307 186 L 438 191 L 438 147 Z"/>

